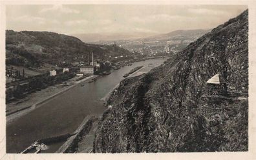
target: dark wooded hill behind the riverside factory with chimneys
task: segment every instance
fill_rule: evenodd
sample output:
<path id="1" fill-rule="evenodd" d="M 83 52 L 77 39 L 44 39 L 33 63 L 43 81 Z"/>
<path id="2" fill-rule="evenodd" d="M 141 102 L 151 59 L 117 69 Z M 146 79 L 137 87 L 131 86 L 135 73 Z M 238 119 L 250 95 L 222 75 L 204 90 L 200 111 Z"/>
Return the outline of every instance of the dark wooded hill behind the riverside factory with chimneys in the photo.
<path id="1" fill-rule="evenodd" d="M 6 65 L 49 69 L 63 62 L 87 62 L 91 52 L 95 59 L 105 60 L 109 55 L 131 54 L 116 45 L 87 44 L 77 37 L 54 32 L 6 30 Z"/>

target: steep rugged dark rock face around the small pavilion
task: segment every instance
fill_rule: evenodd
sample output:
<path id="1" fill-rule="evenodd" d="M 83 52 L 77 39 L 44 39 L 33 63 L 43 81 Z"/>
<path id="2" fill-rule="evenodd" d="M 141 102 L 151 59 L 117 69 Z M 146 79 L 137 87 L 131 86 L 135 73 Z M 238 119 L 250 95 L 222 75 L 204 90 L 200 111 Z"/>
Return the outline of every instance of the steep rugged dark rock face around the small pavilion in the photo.
<path id="1" fill-rule="evenodd" d="M 209 95 L 219 73 L 233 97 Z M 107 101 L 94 152 L 248 150 L 248 10 L 148 74 L 124 79 Z"/>

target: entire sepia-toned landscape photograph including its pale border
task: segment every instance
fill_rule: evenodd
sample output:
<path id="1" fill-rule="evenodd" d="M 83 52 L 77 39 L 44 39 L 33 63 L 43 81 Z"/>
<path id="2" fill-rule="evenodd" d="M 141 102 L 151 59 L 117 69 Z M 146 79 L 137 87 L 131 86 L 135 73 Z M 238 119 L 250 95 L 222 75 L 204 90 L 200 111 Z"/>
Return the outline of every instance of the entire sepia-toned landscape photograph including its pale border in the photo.
<path id="1" fill-rule="evenodd" d="M 247 153 L 249 12 L 234 4 L 5 5 L 3 150 Z"/>

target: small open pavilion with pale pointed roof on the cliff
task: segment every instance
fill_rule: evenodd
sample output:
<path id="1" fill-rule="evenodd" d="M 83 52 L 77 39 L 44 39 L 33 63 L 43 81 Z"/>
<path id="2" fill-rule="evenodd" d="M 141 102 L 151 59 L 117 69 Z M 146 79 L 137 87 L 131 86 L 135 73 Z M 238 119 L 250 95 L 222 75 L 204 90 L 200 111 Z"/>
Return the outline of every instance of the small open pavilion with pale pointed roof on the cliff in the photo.
<path id="1" fill-rule="evenodd" d="M 211 95 L 227 94 L 227 89 L 228 89 L 227 83 L 224 80 L 224 78 L 220 76 L 220 74 L 213 75 L 213 77 L 211 77 L 206 83 L 209 88 L 209 94 Z"/>

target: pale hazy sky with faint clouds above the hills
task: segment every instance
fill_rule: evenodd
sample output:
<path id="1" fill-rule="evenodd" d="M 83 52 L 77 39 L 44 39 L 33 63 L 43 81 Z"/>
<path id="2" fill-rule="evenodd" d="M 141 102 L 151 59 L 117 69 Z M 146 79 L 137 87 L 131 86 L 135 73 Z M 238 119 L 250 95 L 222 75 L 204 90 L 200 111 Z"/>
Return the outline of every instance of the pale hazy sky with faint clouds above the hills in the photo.
<path id="1" fill-rule="evenodd" d="M 213 28 L 247 6 L 9 5 L 6 29 L 78 33 L 167 33 Z"/>

